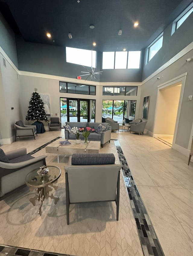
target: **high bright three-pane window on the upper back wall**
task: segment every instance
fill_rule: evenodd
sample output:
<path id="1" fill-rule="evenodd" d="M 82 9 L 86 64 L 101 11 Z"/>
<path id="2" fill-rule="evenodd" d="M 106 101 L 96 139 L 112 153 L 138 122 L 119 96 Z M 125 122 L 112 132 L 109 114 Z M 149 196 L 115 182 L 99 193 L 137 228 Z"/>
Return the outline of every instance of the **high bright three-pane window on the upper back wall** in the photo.
<path id="1" fill-rule="evenodd" d="M 141 51 L 103 52 L 103 69 L 140 68 Z"/>

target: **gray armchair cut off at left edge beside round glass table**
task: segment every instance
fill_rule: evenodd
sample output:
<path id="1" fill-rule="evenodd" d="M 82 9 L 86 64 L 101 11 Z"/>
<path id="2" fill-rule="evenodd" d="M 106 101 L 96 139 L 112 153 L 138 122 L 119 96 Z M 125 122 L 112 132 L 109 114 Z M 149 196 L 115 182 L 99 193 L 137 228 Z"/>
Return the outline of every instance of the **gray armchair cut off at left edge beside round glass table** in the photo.
<path id="1" fill-rule="evenodd" d="M 0 196 L 24 185 L 30 171 L 46 165 L 46 157 L 27 155 L 26 148 L 7 153 L 0 148 Z"/>

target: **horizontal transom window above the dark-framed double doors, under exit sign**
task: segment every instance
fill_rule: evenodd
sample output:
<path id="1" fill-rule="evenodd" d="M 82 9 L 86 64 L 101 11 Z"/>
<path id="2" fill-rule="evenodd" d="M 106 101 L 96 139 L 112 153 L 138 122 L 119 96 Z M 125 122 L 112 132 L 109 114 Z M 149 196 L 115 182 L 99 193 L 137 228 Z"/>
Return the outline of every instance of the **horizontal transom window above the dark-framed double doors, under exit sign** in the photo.
<path id="1" fill-rule="evenodd" d="M 60 92 L 95 95 L 94 85 L 81 85 L 67 82 L 59 82 Z"/>

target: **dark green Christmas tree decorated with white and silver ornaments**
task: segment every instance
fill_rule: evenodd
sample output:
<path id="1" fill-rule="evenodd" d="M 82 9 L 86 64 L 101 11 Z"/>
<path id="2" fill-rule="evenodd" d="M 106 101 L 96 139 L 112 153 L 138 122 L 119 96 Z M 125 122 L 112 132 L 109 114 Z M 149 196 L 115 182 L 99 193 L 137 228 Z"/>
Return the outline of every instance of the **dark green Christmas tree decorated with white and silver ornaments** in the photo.
<path id="1" fill-rule="evenodd" d="M 32 93 L 32 97 L 29 101 L 29 110 L 27 111 L 26 120 L 37 120 L 37 121 L 49 121 L 46 116 L 46 111 L 44 110 L 44 103 L 40 97 L 40 94 L 37 91 L 37 88 L 34 88 L 35 92 Z"/>

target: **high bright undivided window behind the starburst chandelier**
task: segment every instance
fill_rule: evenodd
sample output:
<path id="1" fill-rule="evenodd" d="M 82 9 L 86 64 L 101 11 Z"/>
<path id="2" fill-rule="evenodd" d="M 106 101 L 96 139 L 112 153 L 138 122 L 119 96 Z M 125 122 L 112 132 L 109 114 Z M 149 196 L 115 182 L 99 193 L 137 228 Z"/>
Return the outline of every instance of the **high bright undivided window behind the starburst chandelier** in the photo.
<path id="1" fill-rule="evenodd" d="M 66 47 L 66 62 L 96 68 L 96 51 Z"/>

